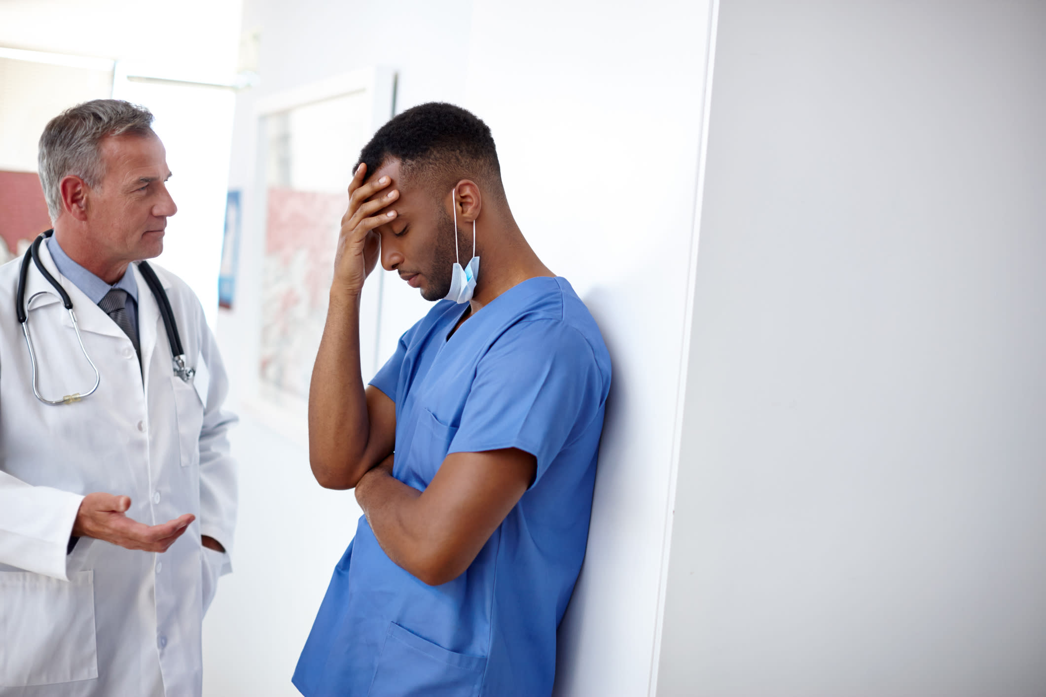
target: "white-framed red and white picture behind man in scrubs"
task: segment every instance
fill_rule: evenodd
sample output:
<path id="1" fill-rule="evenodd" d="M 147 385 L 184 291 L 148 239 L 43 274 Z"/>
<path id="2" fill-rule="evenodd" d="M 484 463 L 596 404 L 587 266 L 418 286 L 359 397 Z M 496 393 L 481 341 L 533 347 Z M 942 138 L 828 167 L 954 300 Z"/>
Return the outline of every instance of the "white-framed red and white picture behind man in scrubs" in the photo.
<path id="1" fill-rule="evenodd" d="M 334 255 L 363 145 L 393 111 L 394 74 L 367 69 L 259 100 L 264 201 L 260 350 L 252 410 L 308 443 L 309 384 L 326 320 Z M 364 379 L 377 371 L 381 275 L 360 312 Z"/>

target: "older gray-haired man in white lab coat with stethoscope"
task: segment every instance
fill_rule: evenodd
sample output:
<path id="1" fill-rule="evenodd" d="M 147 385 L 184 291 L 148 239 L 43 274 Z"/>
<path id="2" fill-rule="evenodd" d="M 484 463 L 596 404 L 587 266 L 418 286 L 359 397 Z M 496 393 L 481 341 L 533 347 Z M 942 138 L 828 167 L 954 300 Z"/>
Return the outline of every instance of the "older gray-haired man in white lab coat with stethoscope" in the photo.
<path id="1" fill-rule="evenodd" d="M 53 233 L 0 266 L 0 697 L 202 692 L 235 417 L 200 301 L 143 261 L 177 211 L 152 121 L 115 99 L 53 118 Z"/>

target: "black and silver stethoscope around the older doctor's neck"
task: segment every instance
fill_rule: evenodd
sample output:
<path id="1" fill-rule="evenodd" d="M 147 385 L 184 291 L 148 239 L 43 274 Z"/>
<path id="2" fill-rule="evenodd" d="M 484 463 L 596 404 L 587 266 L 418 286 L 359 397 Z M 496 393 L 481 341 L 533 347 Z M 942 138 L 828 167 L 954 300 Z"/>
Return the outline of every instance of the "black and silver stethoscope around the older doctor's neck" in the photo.
<path id="1" fill-rule="evenodd" d="M 15 311 L 18 313 L 18 321 L 22 325 L 22 333 L 25 334 L 25 345 L 29 348 L 29 363 L 32 365 L 32 394 L 36 395 L 37 399 L 44 402 L 45 404 L 59 405 L 59 404 L 71 404 L 73 402 L 79 401 L 84 397 L 89 397 L 94 394 L 94 391 L 98 389 L 98 384 L 101 381 L 101 376 L 98 374 L 98 369 L 95 367 L 94 362 L 91 361 L 91 356 L 87 354 L 87 349 L 84 347 L 84 339 L 79 335 L 79 325 L 76 323 L 76 315 L 72 311 L 72 300 L 69 298 L 69 294 L 65 292 L 62 284 L 51 276 L 44 264 L 40 261 L 40 243 L 47 237 L 50 237 L 54 233 L 53 230 L 48 230 L 47 232 L 41 233 L 35 240 L 29 249 L 26 250 L 25 256 L 22 257 L 22 270 L 18 276 L 18 295 L 15 298 Z M 47 399 L 40 394 L 40 390 L 37 387 L 37 354 L 32 350 L 32 339 L 29 338 L 29 312 L 28 307 L 36 300 L 37 296 L 42 295 L 53 295 L 49 291 L 41 291 L 40 293 L 33 294 L 29 298 L 29 302 L 25 302 L 25 279 L 29 274 L 29 259 L 37 265 L 37 269 L 44 278 L 54 286 L 54 289 L 59 292 L 59 296 L 62 298 L 62 304 L 65 305 L 66 310 L 69 312 L 69 319 L 72 320 L 72 328 L 76 331 L 76 341 L 79 343 L 79 350 L 84 353 L 84 357 L 87 358 L 87 363 L 91 366 L 91 370 L 94 371 L 94 387 L 84 393 L 74 392 L 71 395 L 66 395 L 62 399 Z M 160 279 L 156 277 L 156 272 L 144 261 L 138 262 L 138 271 L 141 272 L 142 278 L 145 279 L 145 284 L 149 285 L 149 289 L 153 292 L 153 297 L 156 298 L 156 304 L 160 306 L 160 317 L 163 318 L 163 327 L 167 330 L 167 341 L 170 342 L 170 355 L 174 356 L 173 364 L 175 369 L 175 375 L 182 378 L 186 382 L 192 381 L 192 376 L 196 374 L 195 368 L 189 368 L 185 365 L 185 353 L 182 351 L 182 338 L 178 333 L 178 324 L 175 322 L 175 313 L 170 309 L 170 300 L 167 299 L 167 294 L 163 289 L 163 285 L 160 283 Z"/>

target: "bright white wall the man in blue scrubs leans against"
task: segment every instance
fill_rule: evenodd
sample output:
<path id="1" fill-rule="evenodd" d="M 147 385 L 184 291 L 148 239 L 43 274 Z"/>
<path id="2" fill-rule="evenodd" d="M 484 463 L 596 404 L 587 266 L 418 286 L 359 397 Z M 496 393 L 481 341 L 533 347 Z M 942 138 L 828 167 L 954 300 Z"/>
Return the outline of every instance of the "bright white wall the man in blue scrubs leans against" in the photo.
<path id="1" fill-rule="evenodd" d="M 242 279 L 233 310 L 219 318 L 238 398 L 250 398 L 244 387 L 257 370 L 259 326 L 252 104 L 357 68 L 399 71 L 399 111 L 453 101 L 492 126 L 524 234 L 602 328 L 614 387 L 586 565 L 561 631 L 558 694 L 646 694 L 652 677 L 708 15 L 706 2 L 656 11 L 631 1 L 245 6 L 245 29 L 262 30 L 263 83 L 237 103 L 230 186 L 245 189 Z M 394 275 L 386 281 L 388 351 L 426 305 Z M 245 502 L 237 566 L 205 623 L 205 687 L 290 695 L 298 651 L 358 509 L 351 492 L 312 483 L 302 448 L 250 417 L 236 439 Z"/>

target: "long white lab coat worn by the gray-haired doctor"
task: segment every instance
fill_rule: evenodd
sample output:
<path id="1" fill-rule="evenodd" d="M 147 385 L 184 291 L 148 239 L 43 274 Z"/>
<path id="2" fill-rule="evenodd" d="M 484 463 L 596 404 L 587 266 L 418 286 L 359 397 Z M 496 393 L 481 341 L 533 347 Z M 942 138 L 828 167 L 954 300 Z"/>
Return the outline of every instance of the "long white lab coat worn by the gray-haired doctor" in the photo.
<path id="1" fill-rule="evenodd" d="M 139 371 L 127 335 L 59 274 L 46 245 L 40 252 L 73 301 L 101 382 L 71 404 L 33 396 L 15 315 L 21 259 L 0 266 L 0 696 L 199 696 L 201 622 L 231 568 L 228 553 L 200 537 L 231 550 L 236 508 L 226 438 L 235 417 L 222 410 L 228 381 L 214 338 L 184 281 L 154 264 L 198 371 L 196 386 L 176 377 L 157 302 L 134 266 Z M 26 288 L 27 299 L 52 292 L 31 264 Z M 94 374 L 56 295 L 30 304 L 29 330 L 43 396 L 90 389 Z M 163 554 L 82 538 L 67 556 L 92 491 L 131 496 L 128 515 L 147 525 L 197 519 Z"/>

